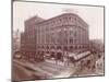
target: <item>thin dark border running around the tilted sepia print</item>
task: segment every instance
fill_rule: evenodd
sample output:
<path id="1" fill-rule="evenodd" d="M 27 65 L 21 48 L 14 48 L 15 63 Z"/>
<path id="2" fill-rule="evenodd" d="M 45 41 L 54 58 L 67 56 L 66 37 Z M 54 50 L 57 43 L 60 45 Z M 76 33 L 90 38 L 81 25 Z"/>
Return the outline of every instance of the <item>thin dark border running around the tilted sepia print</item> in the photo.
<path id="1" fill-rule="evenodd" d="M 36 2 L 36 3 L 50 3 L 50 4 L 64 4 L 64 5 L 82 5 L 82 7 L 98 7 L 98 8 L 104 8 L 104 47 L 105 47 L 105 51 L 104 51 L 104 56 L 105 56 L 105 60 L 104 60 L 104 74 L 97 74 L 97 75 L 78 75 L 78 77 L 70 77 L 70 78 L 52 78 L 52 79 L 39 79 L 39 80 L 58 80 L 58 79 L 76 79 L 76 78 L 92 78 L 92 77 L 105 77 L 106 75 L 106 7 L 105 5 L 95 5 L 95 4 L 77 4 L 77 3 L 61 3 L 61 2 L 46 2 L 46 1 L 26 1 L 26 0 L 11 0 L 11 81 L 12 82 L 19 82 L 19 81 L 13 81 L 12 80 L 12 66 L 13 66 L 13 3 L 17 1 L 17 2 Z M 38 81 L 37 79 L 33 79 L 33 80 L 23 80 L 23 81 Z"/>

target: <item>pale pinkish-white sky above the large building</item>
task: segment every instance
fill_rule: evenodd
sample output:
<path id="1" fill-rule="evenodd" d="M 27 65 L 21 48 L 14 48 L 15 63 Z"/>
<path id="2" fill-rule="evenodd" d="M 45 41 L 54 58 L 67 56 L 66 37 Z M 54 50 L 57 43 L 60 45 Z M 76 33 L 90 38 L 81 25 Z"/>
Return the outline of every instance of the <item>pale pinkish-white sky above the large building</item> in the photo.
<path id="1" fill-rule="evenodd" d="M 50 19 L 61 13 L 76 13 L 89 25 L 89 38 L 104 40 L 104 8 L 74 4 L 56 4 L 39 2 L 19 2 L 13 3 L 13 31 L 24 31 L 24 21 L 32 16 Z"/>

